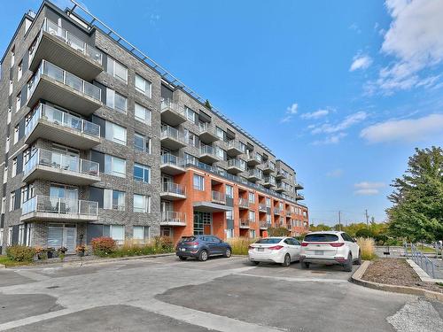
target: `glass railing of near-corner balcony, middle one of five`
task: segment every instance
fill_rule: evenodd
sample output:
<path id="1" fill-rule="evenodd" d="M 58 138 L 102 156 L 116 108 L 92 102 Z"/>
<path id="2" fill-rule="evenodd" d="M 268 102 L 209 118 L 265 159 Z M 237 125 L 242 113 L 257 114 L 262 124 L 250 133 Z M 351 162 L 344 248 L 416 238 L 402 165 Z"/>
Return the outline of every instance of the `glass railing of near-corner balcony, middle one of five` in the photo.
<path id="1" fill-rule="evenodd" d="M 58 126 L 74 129 L 75 131 L 100 137 L 100 126 L 95 123 L 83 120 L 67 112 L 60 111 L 54 107 L 46 104 L 38 104 L 35 112 L 25 127 L 25 135 L 29 135 L 38 123 L 38 120 L 43 119 Z"/>

